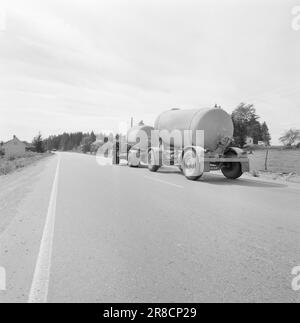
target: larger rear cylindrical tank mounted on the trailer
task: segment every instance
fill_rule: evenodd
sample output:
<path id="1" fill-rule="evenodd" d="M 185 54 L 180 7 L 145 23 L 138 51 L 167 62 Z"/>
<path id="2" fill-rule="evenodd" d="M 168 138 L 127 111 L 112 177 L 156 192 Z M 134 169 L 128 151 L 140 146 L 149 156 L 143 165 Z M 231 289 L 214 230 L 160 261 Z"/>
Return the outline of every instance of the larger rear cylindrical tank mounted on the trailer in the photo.
<path id="1" fill-rule="evenodd" d="M 194 109 L 180 110 L 173 109 L 163 112 L 155 121 L 155 130 L 167 130 L 172 132 L 179 130 L 183 136 L 185 130 L 191 130 L 192 145 L 196 145 L 196 131 L 204 131 L 204 149 L 214 151 L 217 149 L 220 140 L 225 137 L 233 137 L 233 122 L 230 115 L 222 109 Z M 165 131 L 163 131 L 164 133 Z M 163 143 L 170 145 L 168 135 L 160 136 Z M 176 148 L 182 148 L 183 140 L 176 138 L 172 144 Z"/>

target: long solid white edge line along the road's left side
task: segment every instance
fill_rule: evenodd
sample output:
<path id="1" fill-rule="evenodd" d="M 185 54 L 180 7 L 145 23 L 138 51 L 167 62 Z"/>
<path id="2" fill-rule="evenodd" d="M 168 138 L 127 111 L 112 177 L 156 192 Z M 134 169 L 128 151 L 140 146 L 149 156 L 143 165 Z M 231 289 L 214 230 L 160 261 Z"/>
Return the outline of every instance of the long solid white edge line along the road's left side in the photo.
<path id="1" fill-rule="evenodd" d="M 40 245 L 40 251 L 37 258 L 33 281 L 29 293 L 28 303 L 46 303 L 48 297 L 51 255 L 55 224 L 55 211 L 57 199 L 58 174 L 60 166 L 60 155 L 56 166 L 55 177 L 53 181 L 47 218 L 43 231 L 43 237 Z"/>

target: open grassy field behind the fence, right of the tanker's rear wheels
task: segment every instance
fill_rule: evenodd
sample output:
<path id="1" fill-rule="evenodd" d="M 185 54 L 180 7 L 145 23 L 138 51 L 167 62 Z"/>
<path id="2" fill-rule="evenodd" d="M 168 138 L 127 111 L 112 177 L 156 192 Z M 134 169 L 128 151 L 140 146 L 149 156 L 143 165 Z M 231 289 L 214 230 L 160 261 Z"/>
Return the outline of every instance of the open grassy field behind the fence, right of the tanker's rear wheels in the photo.
<path id="1" fill-rule="evenodd" d="M 265 169 L 266 150 L 255 150 L 249 155 L 251 170 Z M 300 175 L 300 150 L 269 150 L 268 171 Z"/>

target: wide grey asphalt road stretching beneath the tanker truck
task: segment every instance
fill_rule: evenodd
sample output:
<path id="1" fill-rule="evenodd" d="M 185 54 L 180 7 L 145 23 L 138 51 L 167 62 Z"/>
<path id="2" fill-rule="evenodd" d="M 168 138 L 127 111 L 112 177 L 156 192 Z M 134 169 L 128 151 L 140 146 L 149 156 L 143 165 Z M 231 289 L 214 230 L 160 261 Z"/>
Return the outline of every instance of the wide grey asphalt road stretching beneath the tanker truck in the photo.
<path id="1" fill-rule="evenodd" d="M 0 231 L 0 302 L 27 302 L 34 286 L 48 302 L 300 301 L 291 287 L 299 185 L 215 174 L 190 182 L 176 168 L 59 155 L 23 179 Z"/>

